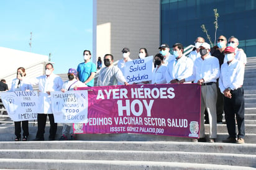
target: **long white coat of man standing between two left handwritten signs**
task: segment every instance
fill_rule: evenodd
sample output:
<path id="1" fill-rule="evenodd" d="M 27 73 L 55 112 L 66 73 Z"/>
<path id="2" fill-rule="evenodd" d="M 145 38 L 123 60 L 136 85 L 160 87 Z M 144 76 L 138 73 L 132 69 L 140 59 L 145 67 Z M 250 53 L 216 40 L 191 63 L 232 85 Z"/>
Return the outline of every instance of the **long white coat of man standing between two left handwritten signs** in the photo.
<path id="1" fill-rule="evenodd" d="M 60 91 L 63 81 L 60 76 L 50 74 L 50 76 L 39 76 L 32 79 L 23 79 L 24 83 L 39 85 L 39 114 L 52 114 L 51 96 L 47 92 Z"/>

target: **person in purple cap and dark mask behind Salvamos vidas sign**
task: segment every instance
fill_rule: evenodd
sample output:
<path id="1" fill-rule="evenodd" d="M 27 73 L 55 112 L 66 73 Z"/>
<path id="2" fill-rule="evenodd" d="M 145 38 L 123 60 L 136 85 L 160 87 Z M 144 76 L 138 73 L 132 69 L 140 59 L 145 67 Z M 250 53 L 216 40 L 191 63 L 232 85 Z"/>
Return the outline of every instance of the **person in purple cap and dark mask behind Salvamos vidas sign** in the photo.
<path id="1" fill-rule="evenodd" d="M 68 69 L 68 80 L 64 82 L 61 91 L 73 91 L 77 87 L 86 87 L 85 83 L 82 83 L 76 79 L 77 71 L 75 68 Z M 68 135 L 70 135 L 70 140 L 75 140 L 75 135 L 73 134 L 73 128 L 71 126 L 73 123 L 63 123 L 62 136 L 59 140 L 68 140 Z"/>

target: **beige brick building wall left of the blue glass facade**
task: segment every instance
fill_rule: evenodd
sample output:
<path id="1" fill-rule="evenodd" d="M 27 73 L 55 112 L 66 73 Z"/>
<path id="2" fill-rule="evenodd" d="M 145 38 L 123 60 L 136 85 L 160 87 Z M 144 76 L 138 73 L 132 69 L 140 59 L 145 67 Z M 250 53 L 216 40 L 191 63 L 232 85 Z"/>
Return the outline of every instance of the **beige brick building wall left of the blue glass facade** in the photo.
<path id="1" fill-rule="evenodd" d="M 95 8 L 94 8 L 95 9 Z M 139 57 L 139 48 L 149 55 L 158 53 L 160 43 L 159 0 L 97 0 L 96 54 L 122 59 L 122 48 L 130 49 L 130 58 Z"/>

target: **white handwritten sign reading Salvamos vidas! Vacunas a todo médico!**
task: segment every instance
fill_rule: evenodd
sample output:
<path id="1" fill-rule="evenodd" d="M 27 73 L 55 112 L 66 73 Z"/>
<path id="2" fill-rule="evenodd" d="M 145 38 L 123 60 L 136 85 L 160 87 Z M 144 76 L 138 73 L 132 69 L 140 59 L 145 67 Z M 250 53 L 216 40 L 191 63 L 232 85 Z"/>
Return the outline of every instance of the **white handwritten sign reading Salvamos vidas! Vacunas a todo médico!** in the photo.
<path id="1" fill-rule="evenodd" d="M 55 123 L 86 123 L 88 121 L 88 92 L 51 92 Z"/>

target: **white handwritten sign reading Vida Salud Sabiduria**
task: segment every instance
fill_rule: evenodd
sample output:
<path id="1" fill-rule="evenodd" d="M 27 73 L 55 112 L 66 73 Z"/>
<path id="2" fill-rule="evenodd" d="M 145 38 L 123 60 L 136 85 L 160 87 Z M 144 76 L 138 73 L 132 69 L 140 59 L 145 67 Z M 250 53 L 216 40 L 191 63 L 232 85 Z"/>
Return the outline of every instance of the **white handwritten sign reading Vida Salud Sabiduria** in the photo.
<path id="1" fill-rule="evenodd" d="M 153 56 L 128 61 L 124 68 L 127 83 L 140 83 L 152 80 Z"/>

